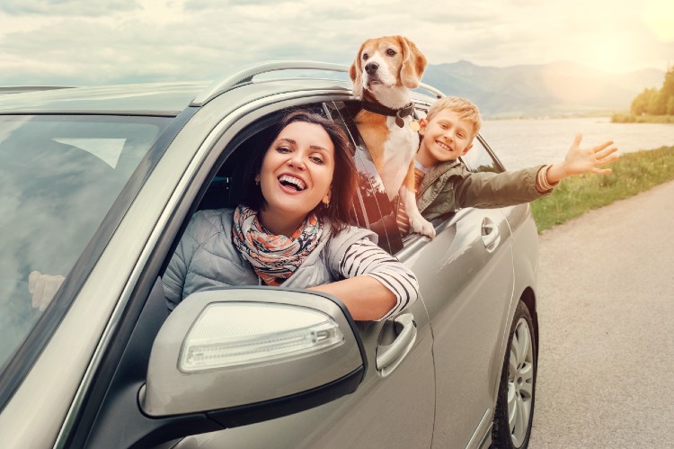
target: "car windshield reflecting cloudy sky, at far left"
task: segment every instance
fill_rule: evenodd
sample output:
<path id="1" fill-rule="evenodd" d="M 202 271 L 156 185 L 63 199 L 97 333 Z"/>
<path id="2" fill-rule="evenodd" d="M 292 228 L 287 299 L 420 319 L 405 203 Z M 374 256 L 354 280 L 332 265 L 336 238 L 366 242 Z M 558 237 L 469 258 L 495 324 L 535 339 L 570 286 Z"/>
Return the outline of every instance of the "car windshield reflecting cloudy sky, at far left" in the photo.
<path id="1" fill-rule="evenodd" d="M 0 367 L 40 318 L 29 274 L 67 276 L 169 121 L 0 116 Z"/>

